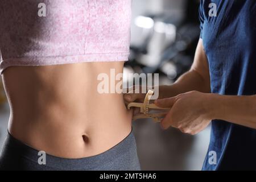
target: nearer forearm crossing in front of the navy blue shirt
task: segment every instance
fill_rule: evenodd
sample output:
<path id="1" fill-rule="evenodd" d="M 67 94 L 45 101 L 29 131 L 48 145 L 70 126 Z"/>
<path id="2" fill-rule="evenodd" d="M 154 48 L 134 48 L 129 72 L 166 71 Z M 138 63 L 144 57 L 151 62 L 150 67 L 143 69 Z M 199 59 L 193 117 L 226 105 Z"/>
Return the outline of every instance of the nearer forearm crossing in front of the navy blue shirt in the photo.
<path id="1" fill-rule="evenodd" d="M 221 96 L 209 94 L 211 119 L 221 119 L 256 129 L 256 96 Z"/>

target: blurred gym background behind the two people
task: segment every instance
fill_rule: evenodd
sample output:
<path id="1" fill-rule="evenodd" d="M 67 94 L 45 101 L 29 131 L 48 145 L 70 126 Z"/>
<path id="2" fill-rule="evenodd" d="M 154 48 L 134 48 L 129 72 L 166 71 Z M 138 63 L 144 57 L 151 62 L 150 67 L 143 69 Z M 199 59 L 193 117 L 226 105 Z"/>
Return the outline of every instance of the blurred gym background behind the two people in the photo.
<path id="1" fill-rule="evenodd" d="M 160 84 L 169 85 L 188 71 L 200 35 L 198 6 L 199 0 L 133 0 L 131 54 L 124 72 L 159 73 Z M 0 82 L 0 150 L 9 112 Z M 210 127 L 191 136 L 140 119 L 133 129 L 143 170 L 201 169 Z"/>

